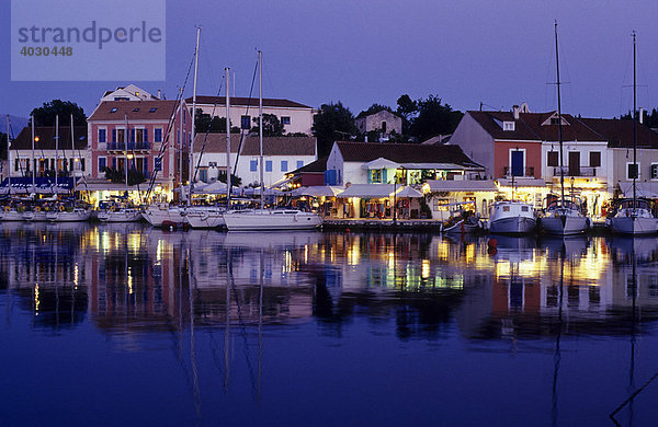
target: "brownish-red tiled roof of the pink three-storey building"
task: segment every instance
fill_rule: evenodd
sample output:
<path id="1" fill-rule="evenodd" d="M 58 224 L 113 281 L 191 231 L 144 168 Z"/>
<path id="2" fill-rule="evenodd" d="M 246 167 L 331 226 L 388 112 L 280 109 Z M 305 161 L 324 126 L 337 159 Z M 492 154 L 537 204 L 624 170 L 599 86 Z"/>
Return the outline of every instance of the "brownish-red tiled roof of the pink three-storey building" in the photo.
<path id="1" fill-rule="evenodd" d="M 123 122 L 169 120 L 178 109 L 177 101 L 103 101 L 87 119 Z"/>

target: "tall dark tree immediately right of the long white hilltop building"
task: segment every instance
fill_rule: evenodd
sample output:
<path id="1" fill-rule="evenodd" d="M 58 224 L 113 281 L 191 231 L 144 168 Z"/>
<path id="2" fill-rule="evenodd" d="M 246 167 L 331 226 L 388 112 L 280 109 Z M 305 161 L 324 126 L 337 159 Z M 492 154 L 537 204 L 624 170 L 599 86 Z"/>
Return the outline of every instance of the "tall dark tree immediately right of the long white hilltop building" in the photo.
<path id="1" fill-rule="evenodd" d="M 333 141 L 349 140 L 359 134 L 352 112 L 340 101 L 322 104 L 313 122 L 313 132 L 318 139 L 318 158 L 329 155 Z"/>

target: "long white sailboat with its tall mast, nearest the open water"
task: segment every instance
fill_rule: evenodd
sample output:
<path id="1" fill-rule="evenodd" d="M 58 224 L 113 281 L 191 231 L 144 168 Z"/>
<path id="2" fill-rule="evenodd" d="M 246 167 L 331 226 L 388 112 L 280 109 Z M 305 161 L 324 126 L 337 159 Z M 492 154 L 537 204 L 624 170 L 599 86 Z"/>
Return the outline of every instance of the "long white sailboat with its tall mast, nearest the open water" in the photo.
<path id="1" fill-rule="evenodd" d="M 297 209 L 265 209 L 265 183 L 263 172 L 263 79 L 262 53 L 258 51 L 259 79 L 259 141 L 260 141 L 260 209 L 228 211 L 224 221 L 228 231 L 309 230 L 322 224 L 322 218 Z M 227 182 L 230 173 L 227 172 Z"/>

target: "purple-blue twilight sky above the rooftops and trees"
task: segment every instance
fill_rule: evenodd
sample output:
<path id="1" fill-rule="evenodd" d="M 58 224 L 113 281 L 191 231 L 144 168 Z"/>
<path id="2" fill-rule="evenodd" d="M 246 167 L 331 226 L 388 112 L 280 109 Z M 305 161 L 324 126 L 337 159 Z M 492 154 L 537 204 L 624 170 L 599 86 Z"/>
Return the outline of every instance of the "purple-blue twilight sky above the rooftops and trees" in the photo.
<path id="1" fill-rule="evenodd" d="M 45 3 L 55 3 L 46 1 Z M 247 96 L 257 47 L 263 93 L 314 107 L 341 101 L 358 114 L 395 107 L 400 94 L 439 95 L 456 109 L 554 109 L 558 21 L 563 109 L 590 117 L 632 108 L 632 31 L 637 31 L 638 106 L 658 106 L 655 0 L 366 1 L 168 0 L 167 81 L 134 82 L 170 99 L 185 78 L 202 26 L 197 94 L 216 94 L 224 67 Z M 129 13 L 129 12 L 127 12 Z M 53 99 L 89 115 L 103 91 L 126 81 L 11 82 L 10 1 L 0 1 L 0 113 L 26 117 Z M 232 76 L 231 76 L 232 77 Z M 231 84 L 232 85 L 232 84 Z M 189 84 L 186 95 L 192 95 Z M 224 90 L 223 90 L 224 93 Z M 258 96 L 258 92 L 254 92 Z"/>

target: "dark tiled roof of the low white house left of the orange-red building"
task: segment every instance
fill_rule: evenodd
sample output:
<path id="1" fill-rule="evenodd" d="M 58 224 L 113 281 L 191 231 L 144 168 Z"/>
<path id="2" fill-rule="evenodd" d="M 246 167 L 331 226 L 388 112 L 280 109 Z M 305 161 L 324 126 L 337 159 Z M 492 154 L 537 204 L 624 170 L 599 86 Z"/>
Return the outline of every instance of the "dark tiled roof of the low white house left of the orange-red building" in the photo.
<path id="1" fill-rule="evenodd" d="M 336 142 L 343 161 L 367 163 L 385 158 L 396 163 L 456 163 L 481 168 L 460 146 L 419 143 Z"/>

